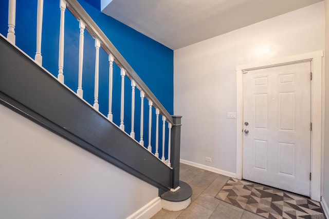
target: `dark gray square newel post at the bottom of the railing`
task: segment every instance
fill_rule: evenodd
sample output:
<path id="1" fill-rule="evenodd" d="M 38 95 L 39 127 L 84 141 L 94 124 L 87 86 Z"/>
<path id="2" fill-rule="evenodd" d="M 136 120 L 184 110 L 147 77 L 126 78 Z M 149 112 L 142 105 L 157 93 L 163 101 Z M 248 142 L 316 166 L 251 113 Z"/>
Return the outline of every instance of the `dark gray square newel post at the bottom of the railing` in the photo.
<path id="1" fill-rule="evenodd" d="M 173 168 L 172 189 L 179 186 L 179 161 L 180 161 L 180 115 L 173 115 L 174 124 L 171 130 L 171 166 Z"/>

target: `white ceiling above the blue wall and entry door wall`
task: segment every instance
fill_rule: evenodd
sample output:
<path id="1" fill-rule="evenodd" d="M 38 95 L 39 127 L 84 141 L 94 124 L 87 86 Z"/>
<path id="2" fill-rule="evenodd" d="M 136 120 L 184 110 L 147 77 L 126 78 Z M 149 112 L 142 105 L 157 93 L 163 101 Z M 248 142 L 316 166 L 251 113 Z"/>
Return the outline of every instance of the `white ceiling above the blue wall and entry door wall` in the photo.
<path id="1" fill-rule="evenodd" d="M 102 12 L 175 50 L 322 0 L 101 0 Z"/>

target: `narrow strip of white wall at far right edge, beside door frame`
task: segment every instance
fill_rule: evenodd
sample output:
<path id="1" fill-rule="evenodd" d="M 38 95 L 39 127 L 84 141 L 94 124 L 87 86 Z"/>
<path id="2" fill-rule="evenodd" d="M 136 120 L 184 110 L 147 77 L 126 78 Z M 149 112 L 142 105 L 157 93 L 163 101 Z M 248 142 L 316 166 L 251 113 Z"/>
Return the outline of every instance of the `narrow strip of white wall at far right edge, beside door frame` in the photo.
<path id="1" fill-rule="evenodd" d="M 325 0 L 325 127 L 323 162 L 323 197 L 329 216 L 329 0 Z"/>

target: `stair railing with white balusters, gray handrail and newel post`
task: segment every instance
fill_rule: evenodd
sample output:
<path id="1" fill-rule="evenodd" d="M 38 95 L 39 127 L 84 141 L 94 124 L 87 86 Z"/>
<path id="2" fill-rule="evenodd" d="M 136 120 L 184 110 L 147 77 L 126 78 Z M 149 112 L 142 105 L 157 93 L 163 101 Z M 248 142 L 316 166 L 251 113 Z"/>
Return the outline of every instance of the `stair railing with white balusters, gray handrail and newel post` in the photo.
<path id="1" fill-rule="evenodd" d="M 66 8 L 74 15 L 79 22 L 80 37 L 79 37 L 79 78 L 78 78 L 78 88 L 77 95 L 83 99 L 83 87 L 82 87 L 82 76 L 83 76 L 83 50 L 84 50 L 84 30 L 87 30 L 90 35 L 95 39 L 95 91 L 94 91 L 94 104 L 93 108 L 99 111 L 98 102 L 98 92 L 99 92 L 99 49 L 103 50 L 108 54 L 108 74 L 109 74 L 109 90 L 108 90 L 108 114 L 103 115 L 107 117 L 107 120 L 113 123 L 112 114 L 112 98 L 113 98 L 113 64 L 115 63 L 121 70 L 121 111 L 120 111 L 120 124 L 116 126 L 122 131 L 125 131 L 124 127 L 124 78 L 127 76 L 131 80 L 132 87 L 132 114 L 131 114 L 131 129 L 130 133 L 126 132 L 131 138 L 140 144 L 142 147 L 146 147 L 144 144 L 145 140 L 143 137 L 143 121 L 144 121 L 144 98 L 148 100 L 149 105 L 149 137 L 147 150 L 152 153 L 152 148 L 155 147 L 154 156 L 159 158 L 160 161 L 165 163 L 169 168 L 173 169 L 173 181 L 172 188 L 178 188 L 179 186 L 179 156 L 180 156 L 180 116 L 171 116 L 169 112 L 162 106 L 151 90 L 145 85 L 142 79 L 134 71 L 134 69 L 127 63 L 120 52 L 114 47 L 114 45 L 109 41 L 102 30 L 97 26 L 93 19 L 88 15 L 88 13 L 82 8 L 77 0 L 59 0 L 60 1 L 60 38 L 59 38 L 59 61 L 58 61 L 58 81 L 64 84 L 64 22 L 65 22 L 65 11 Z M 38 0 L 37 9 L 37 22 L 36 22 L 36 52 L 34 60 L 37 64 L 42 66 L 42 54 L 41 54 L 41 38 L 42 38 L 42 22 L 43 22 L 43 0 Z M 15 11 L 16 11 L 16 1 L 9 0 L 9 11 L 8 11 L 8 41 L 15 45 Z M 141 112 L 140 112 L 140 136 L 137 139 L 135 136 L 135 89 L 140 91 L 140 101 L 141 101 Z M 71 90 L 72 91 L 72 90 Z M 72 91 L 74 92 L 74 91 Z M 156 115 L 156 127 L 152 127 L 152 113 L 155 109 Z M 159 115 L 162 116 L 162 133 L 159 133 Z M 166 125 L 167 124 L 167 125 Z M 167 126 L 167 128 L 166 128 Z M 169 141 L 168 141 L 168 160 L 165 158 L 165 138 L 166 132 L 168 131 Z M 151 137 L 152 132 L 156 133 L 156 145 L 152 146 Z M 159 154 L 159 134 L 162 134 L 162 154 Z"/>

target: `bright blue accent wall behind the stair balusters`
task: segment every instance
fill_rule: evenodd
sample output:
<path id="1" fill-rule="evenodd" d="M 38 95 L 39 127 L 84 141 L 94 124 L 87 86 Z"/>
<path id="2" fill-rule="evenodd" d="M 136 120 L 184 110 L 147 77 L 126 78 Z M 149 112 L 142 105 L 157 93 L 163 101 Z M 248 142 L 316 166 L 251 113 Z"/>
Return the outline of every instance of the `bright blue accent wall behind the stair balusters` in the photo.
<path id="1" fill-rule="evenodd" d="M 173 114 L 173 50 L 161 45 L 153 39 L 118 22 L 116 19 L 100 12 L 99 1 L 79 0 L 79 3 L 94 19 L 96 24 L 107 35 L 109 40 L 133 67 L 144 83 L 159 99 L 162 105 Z M 36 47 L 36 6 L 37 1 L 16 1 L 16 45 L 34 58 Z M 60 1 L 44 1 L 42 56 L 43 66 L 54 76 L 58 75 L 58 47 L 60 27 Z M 0 33 L 7 35 L 8 1 L 0 2 Z M 65 12 L 65 43 L 64 43 L 64 80 L 65 84 L 77 91 L 78 87 L 78 53 L 79 53 L 79 22 L 66 9 Z M 86 101 L 94 103 L 95 82 L 95 40 L 85 30 L 84 63 L 83 63 L 83 95 Z M 114 122 L 120 124 L 120 69 L 114 66 L 113 74 L 113 114 Z M 99 105 L 100 111 L 108 113 L 108 55 L 100 49 L 99 65 Z M 136 88 L 135 132 L 136 140 L 140 135 L 140 92 Z M 65 107 L 65 106 L 63 106 Z M 148 101 L 144 101 L 144 146 L 148 145 Z M 125 130 L 131 130 L 131 82 L 125 79 Z M 152 121 L 155 127 L 155 110 Z M 83 119 L 83 118 L 82 118 Z M 97 127 L 95 127 L 97 128 Z M 167 125 L 166 125 L 167 128 Z M 159 117 L 159 149 L 162 146 L 162 120 Z M 166 130 L 168 136 L 168 129 Z M 167 145 L 168 139 L 166 139 Z M 155 132 L 152 132 L 152 146 L 155 145 Z M 166 151 L 167 153 L 167 151 Z"/>

